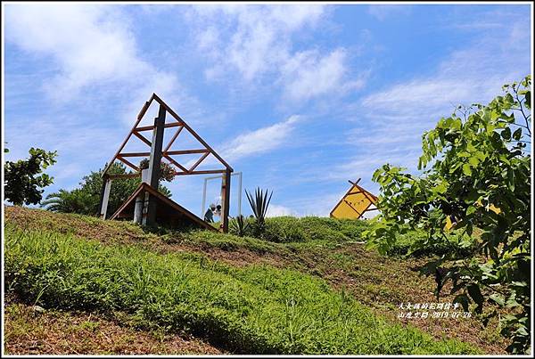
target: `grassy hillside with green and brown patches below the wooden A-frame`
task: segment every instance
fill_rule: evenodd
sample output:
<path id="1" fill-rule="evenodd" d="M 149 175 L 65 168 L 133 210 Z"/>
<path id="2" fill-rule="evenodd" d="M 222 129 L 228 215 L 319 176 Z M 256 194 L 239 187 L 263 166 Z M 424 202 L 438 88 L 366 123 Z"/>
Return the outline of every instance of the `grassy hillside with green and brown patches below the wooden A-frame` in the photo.
<path id="1" fill-rule="evenodd" d="M 24 330 L 37 336 L 24 325 L 30 320 L 91 314 L 148 342 L 165 337 L 153 353 L 504 353 L 495 323 L 399 319 L 400 303 L 437 301 L 434 281 L 418 273 L 421 259 L 364 249 L 365 228 L 280 217 L 268 221 L 265 241 L 5 208 L 5 288 L 15 298 L 7 305 L 6 348 Z M 37 318 L 29 314 L 36 304 L 45 308 Z M 188 344 L 169 344 L 178 339 Z M 124 352 L 96 344 L 83 352 Z"/>

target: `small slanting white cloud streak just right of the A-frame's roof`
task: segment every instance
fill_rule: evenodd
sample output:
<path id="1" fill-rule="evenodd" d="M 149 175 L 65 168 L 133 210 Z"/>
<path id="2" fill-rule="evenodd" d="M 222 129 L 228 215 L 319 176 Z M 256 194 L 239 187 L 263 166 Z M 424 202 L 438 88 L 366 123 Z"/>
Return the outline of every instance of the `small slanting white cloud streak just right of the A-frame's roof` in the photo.
<path id="1" fill-rule="evenodd" d="M 291 116 L 283 122 L 275 125 L 259 128 L 255 131 L 239 135 L 228 143 L 222 153 L 222 157 L 229 161 L 242 159 L 268 151 L 274 151 L 284 146 L 294 129 L 299 116 Z"/>

